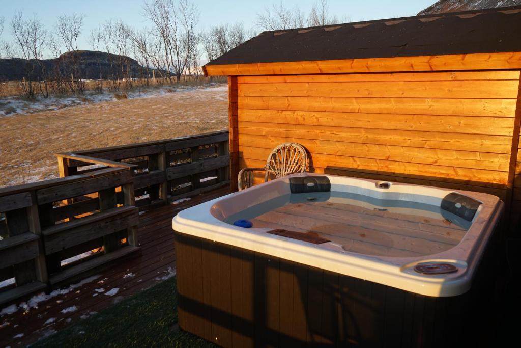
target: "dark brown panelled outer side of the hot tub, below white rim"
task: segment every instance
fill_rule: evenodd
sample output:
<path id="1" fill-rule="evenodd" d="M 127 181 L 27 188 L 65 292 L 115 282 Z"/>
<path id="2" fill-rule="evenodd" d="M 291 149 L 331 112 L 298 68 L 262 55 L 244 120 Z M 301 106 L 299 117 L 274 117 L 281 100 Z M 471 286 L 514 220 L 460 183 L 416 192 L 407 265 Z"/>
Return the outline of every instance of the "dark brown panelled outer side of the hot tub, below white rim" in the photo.
<path id="1" fill-rule="evenodd" d="M 180 326 L 221 346 L 488 344 L 487 258 L 469 292 L 430 297 L 177 232 L 176 253 Z"/>

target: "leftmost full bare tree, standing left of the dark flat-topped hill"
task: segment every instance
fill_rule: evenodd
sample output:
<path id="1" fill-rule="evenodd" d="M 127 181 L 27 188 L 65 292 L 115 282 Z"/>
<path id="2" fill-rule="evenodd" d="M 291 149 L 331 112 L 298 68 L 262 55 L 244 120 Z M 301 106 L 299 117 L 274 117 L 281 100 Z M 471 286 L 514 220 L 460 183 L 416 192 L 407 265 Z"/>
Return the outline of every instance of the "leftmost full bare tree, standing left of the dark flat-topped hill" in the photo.
<path id="1" fill-rule="evenodd" d="M 24 18 L 22 10 L 17 11 L 13 18 L 11 18 L 10 26 L 20 54 L 22 58 L 26 59 L 26 81 L 22 83 L 24 96 L 28 99 L 36 98 L 35 81 L 37 80 L 43 97 L 48 97 L 47 83 L 44 81 L 44 88 L 42 88 L 40 78 L 45 69 L 41 58 L 43 56 L 47 31 L 38 18 Z"/>

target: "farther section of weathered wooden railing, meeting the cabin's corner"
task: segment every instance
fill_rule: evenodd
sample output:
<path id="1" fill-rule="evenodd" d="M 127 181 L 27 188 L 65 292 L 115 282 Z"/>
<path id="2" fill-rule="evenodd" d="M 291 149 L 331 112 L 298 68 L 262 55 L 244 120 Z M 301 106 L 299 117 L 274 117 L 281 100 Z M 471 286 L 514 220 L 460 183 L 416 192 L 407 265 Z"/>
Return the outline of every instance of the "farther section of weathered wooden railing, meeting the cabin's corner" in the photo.
<path id="1" fill-rule="evenodd" d="M 228 131 L 60 153 L 60 176 L 105 168 L 103 161 L 132 165 L 140 210 L 229 185 Z M 114 162 L 118 161 L 118 162 Z"/>

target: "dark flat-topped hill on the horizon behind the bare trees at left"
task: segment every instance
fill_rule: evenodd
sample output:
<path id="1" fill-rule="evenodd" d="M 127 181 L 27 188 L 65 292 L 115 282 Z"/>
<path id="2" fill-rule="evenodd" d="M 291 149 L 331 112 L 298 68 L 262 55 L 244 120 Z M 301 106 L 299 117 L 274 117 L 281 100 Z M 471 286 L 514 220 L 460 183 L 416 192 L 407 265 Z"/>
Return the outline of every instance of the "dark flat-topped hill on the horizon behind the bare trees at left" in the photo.
<path id="1" fill-rule="evenodd" d="M 30 61 L 30 64 L 32 63 L 38 62 L 34 62 L 33 59 Z M 21 58 L 0 59 L 0 80 L 27 78 L 26 64 L 27 60 Z M 77 68 L 74 68 L 75 66 Z M 40 64 L 34 64 L 34 67 L 32 79 L 53 78 L 57 71 L 67 78 L 73 73 L 75 79 L 134 78 L 145 77 L 147 73 L 152 76 L 152 69 L 141 66 L 135 59 L 99 51 L 67 52 L 55 59 L 42 59 Z"/>

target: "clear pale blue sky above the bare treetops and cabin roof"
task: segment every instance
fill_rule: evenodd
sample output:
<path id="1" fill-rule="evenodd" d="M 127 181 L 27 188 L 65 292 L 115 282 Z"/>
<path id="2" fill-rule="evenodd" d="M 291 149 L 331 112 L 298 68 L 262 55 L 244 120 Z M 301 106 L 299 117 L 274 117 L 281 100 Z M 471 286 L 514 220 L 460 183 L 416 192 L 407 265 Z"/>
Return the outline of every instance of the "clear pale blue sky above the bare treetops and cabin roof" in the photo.
<path id="1" fill-rule="evenodd" d="M 247 1 L 247 0 L 194 0 L 201 12 L 200 29 L 220 23 L 242 21 L 246 28 L 254 27 L 256 14 L 264 7 L 279 4 L 279 0 Z M 338 18 L 349 21 L 414 16 L 421 9 L 436 0 L 329 0 L 330 11 Z M 299 6 L 304 14 L 309 12 L 313 0 L 286 0 L 286 7 Z M 5 18 L 4 33 L 0 39 L 10 41 L 9 20 L 18 9 L 26 15 L 36 14 L 48 30 L 53 30 L 56 17 L 62 14 L 84 14 L 83 37 L 79 48 L 90 49 L 86 44 L 86 36 L 91 29 L 105 21 L 115 18 L 131 23 L 134 27 L 146 26 L 141 16 L 143 0 L 0 0 L 0 17 Z M 262 30 L 255 28 L 255 32 Z"/>

